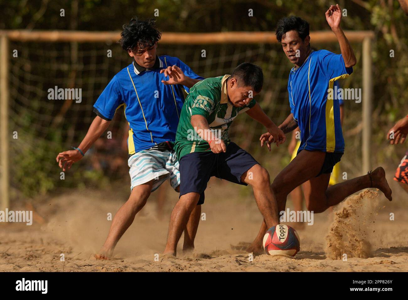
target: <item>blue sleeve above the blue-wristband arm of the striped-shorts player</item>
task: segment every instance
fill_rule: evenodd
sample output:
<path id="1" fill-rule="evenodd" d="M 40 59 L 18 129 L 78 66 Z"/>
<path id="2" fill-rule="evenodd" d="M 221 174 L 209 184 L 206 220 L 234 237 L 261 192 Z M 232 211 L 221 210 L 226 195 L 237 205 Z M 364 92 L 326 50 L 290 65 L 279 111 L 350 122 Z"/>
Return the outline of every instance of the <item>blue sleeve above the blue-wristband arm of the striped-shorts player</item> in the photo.
<path id="1" fill-rule="evenodd" d="M 123 104 L 122 94 L 116 76 L 105 87 L 93 105 L 93 111 L 104 120 L 111 121 L 116 109 Z"/>

